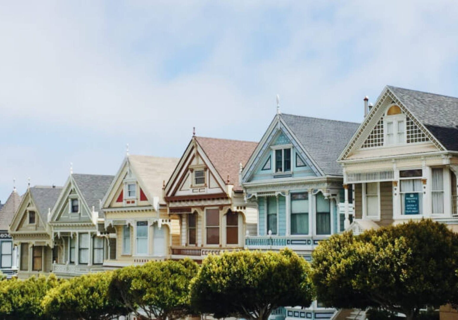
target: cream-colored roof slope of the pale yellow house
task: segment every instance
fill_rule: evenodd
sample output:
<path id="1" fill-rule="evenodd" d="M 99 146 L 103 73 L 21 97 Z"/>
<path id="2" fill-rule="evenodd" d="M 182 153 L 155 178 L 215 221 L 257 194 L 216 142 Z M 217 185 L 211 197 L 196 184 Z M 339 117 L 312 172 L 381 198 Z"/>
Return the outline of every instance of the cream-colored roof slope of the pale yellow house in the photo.
<path id="1" fill-rule="evenodd" d="M 136 178 L 146 189 L 143 190 L 145 194 L 150 197 L 158 197 L 159 201 L 163 203 L 162 187 L 164 181 L 169 180 L 180 159 L 131 155 L 128 156 L 128 160 Z M 148 200 L 153 201 L 150 197 Z"/>

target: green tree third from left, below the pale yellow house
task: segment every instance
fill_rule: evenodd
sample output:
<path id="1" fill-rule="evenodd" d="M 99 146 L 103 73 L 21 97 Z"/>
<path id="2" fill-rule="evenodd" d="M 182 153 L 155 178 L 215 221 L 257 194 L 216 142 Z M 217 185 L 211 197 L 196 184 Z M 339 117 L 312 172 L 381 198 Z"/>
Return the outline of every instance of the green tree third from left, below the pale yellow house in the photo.
<path id="1" fill-rule="evenodd" d="M 197 270 L 190 259 L 128 266 L 114 271 L 109 295 L 138 319 L 178 319 L 191 313 L 189 282 Z"/>

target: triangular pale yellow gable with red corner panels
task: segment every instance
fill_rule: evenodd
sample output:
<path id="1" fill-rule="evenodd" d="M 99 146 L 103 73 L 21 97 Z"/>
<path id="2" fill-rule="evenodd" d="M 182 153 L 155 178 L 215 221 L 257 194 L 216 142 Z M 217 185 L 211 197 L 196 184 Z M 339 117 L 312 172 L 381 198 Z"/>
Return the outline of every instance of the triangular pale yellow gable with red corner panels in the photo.
<path id="1" fill-rule="evenodd" d="M 145 190 L 141 177 L 135 172 L 129 157 L 125 157 L 102 201 L 102 206 L 103 208 L 157 207 L 157 197 L 147 195 Z M 149 199 L 153 199 L 153 201 L 149 201 Z"/>

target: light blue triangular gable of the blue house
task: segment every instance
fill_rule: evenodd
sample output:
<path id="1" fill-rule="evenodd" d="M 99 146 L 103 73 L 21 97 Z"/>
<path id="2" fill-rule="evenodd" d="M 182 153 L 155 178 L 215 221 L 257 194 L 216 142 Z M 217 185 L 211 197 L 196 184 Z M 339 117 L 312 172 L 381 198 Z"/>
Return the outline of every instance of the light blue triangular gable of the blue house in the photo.
<path id="1" fill-rule="evenodd" d="M 312 160 L 310 155 L 305 151 L 303 146 L 294 136 L 294 132 L 289 129 L 288 125 L 281 119 L 280 115 L 275 116 L 267 131 L 262 136 L 259 145 L 248 160 L 242 171 L 243 183 L 256 176 L 266 176 L 266 173 L 273 174 L 276 170 L 275 153 L 272 150 L 281 148 L 281 146 L 291 147 L 290 163 L 291 168 L 304 171 L 308 175 L 322 176 L 322 170 Z M 284 154 L 282 153 L 284 165 Z M 270 165 L 269 165 L 270 164 Z M 269 177 L 271 178 L 271 177 Z"/>

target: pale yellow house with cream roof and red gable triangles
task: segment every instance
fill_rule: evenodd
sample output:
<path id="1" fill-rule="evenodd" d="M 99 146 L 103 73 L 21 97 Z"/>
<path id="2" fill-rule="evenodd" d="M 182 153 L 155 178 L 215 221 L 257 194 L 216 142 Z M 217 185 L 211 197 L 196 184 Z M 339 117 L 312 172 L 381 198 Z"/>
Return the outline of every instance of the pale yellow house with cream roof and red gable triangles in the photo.
<path id="1" fill-rule="evenodd" d="M 104 261 L 106 268 L 169 258 L 180 226 L 167 213 L 162 189 L 177 163 L 176 158 L 125 157 L 102 201 L 104 226 L 114 228 L 115 252 Z"/>

